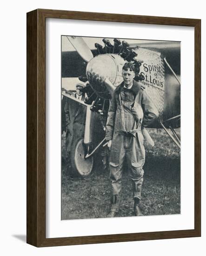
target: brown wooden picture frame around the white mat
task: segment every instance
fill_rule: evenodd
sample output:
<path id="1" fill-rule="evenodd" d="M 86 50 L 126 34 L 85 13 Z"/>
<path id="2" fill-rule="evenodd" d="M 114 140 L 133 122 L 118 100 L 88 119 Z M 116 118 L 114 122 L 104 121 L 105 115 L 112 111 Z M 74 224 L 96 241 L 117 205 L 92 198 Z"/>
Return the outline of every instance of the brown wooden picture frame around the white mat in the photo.
<path id="1" fill-rule="evenodd" d="M 46 19 L 194 27 L 194 229 L 46 238 Z M 27 13 L 27 243 L 37 247 L 201 236 L 201 20 L 37 9 Z"/>

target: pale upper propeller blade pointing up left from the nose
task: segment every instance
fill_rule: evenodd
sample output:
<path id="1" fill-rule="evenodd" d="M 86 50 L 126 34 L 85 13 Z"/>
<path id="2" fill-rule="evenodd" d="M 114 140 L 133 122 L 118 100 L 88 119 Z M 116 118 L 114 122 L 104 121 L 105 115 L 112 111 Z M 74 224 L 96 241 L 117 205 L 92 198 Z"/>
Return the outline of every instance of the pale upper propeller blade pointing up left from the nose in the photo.
<path id="1" fill-rule="evenodd" d="M 87 46 L 86 42 L 82 37 L 79 36 L 66 36 L 76 51 L 80 54 L 83 60 L 89 62 L 93 59 L 92 51 Z"/>

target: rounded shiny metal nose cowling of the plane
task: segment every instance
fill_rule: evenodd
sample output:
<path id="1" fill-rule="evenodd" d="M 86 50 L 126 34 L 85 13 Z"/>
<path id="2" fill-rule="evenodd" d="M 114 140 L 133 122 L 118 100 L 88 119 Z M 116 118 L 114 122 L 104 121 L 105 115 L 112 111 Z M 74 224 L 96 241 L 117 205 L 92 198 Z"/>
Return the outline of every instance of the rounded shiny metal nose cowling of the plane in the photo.
<path id="1" fill-rule="evenodd" d="M 124 63 L 117 54 L 102 54 L 90 60 L 86 67 L 86 76 L 93 90 L 101 97 L 109 98 L 105 79 L 109 79 L 114 86 L 119 85 L 123 81 L 121 73 Z"/>

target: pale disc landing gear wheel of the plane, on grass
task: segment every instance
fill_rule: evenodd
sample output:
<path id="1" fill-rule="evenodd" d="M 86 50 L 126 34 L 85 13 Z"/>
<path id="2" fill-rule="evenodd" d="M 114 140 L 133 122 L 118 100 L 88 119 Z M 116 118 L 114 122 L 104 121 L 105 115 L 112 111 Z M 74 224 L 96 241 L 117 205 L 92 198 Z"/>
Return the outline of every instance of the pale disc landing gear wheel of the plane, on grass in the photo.
<path id="1" fill-rule="evenodd" d="M 85 159 L 86 150 L 84 139 L 73 143 L 71 151 L 71 165 L 74 176 L 88 176 L 93 169 L 93 156 Z"/>

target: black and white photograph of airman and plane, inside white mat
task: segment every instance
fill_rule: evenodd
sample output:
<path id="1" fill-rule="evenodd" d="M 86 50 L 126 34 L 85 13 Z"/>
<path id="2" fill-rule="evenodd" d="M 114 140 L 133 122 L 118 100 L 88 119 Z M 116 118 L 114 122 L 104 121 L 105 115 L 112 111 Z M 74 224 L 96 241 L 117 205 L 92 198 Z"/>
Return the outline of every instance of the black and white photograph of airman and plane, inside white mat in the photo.
<path id="1" fill-rule="evenodd" d="M 180 42 L 62 35 L 61 91 L 61 219 L 180 214 Z"/>

